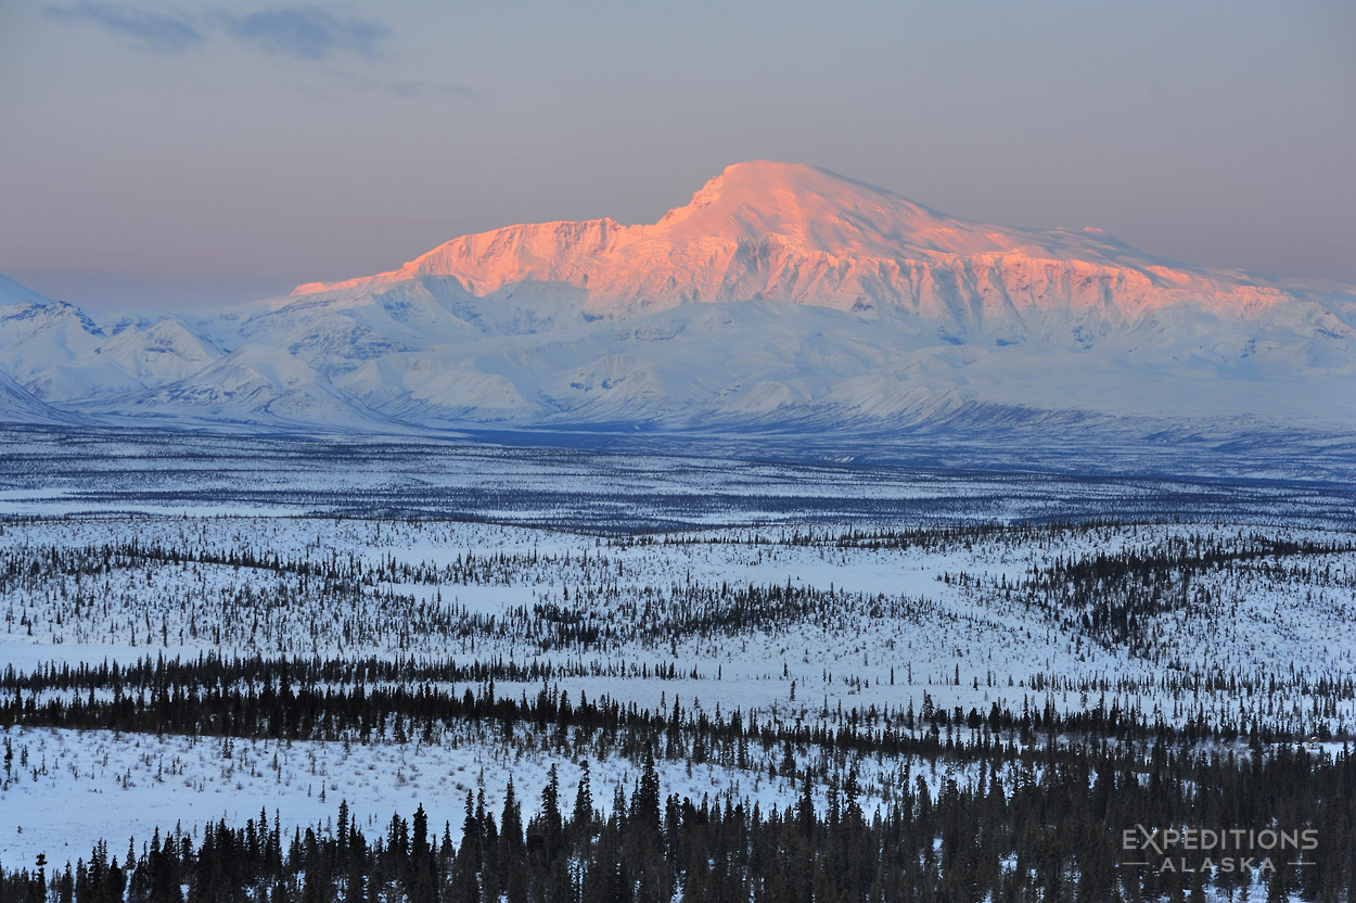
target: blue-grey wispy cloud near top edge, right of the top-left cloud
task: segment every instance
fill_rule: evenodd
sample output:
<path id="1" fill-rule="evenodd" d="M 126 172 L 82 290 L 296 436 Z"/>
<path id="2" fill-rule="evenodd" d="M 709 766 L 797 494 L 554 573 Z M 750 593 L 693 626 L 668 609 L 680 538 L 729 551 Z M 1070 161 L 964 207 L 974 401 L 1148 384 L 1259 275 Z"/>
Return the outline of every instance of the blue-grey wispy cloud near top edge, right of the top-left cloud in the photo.
<path id="1" fill-rule="evenodd" d="M 220 12 L 216 19 L 237 41 L 298 60 L 328 60 L 346 53 L 377 60 L 391 37 L 391 28 L 380 22 L 339 18 L 315 7 L 264 9 L 244 16 Z"/>

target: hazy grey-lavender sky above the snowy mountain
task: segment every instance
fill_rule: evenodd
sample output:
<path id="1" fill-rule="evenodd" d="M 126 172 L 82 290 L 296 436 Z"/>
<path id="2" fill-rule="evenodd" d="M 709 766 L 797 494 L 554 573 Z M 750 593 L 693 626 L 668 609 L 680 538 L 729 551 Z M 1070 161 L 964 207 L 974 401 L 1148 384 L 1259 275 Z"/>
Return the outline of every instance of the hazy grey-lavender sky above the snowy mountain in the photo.
<path id="1" fill-rule="evenodd" d="M 217 306 L 725 165 L 1356 282 L 1356 4 L 0 0 L 0 273 Z"/>

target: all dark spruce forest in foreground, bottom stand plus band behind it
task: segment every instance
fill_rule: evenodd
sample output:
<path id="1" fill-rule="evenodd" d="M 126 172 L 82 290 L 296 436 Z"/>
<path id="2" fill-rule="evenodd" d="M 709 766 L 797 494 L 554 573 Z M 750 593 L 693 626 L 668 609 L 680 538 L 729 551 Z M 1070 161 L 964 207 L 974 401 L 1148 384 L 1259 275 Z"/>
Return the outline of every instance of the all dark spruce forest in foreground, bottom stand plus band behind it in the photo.
<path id="1" fill-rule="evenodd" d="M 522 666 L 515 666 L 522 667 Z M 1299 894 L 1325 903 L 1356 888 L 1356 755 L 1298 736 L 1218 725 L 1173 728 L 1140 713 L 1052 705 L 982 715 L 853 709 L 805 724 L 738 709 L 654 712 L 607 697 L 571 698 L 548 675 L 507 663 L 222 659 L 47 666 L 0 678 L 0 725 L 99 728 L 279 740 L 457 743 L 458 725 L 574 761 L 643 762 L 606 818 L 587 784 L 570 816 L 559 786 L 523 822 L 468 799 L 460 842 L 422 812 L 363 837 L 342 811 L 293 837 L 263 816 L 207 826 L 194 841 L 157 835 L 122 857 L 96 849 L 57 869 L 9 870 L 0 903 L 23 900 L 1185 900 Z M 496 696 L 496 674 L 541 679 Z M 456 682 L 462 682 L 458 690 Z M 816 755 L 810 755 L 816 752 Z M 795 781 L 801 799 L 761 811 L 750 799 L 663 799 L 654 757 L 717 762 Z M 872 799 L 856 762 L 877 769 Z M 20 780 L 12 757 L 4 780 Z M 928 763 L 967 763 L 940 790 Z M 913 769 L 918 766 L 918 773 Z M 827 788 L 827 800 L 816 799 Z M 1121 831 L 1315 828 L 1313 865 L 1257 876 L 1159 873 L 1121 865 Z M 8 864 L 12 865 L 14 864 Z M 182 896 L 180 888 L 187 888 Z"/>

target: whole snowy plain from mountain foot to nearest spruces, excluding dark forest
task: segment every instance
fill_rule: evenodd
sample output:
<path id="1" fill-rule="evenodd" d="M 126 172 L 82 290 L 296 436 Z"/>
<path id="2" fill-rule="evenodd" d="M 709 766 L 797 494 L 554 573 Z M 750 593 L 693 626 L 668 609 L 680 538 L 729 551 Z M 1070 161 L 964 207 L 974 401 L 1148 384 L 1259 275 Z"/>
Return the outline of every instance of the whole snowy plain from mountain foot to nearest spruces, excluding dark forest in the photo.
<path id="1" fill-rule="evenodd" d="M 0 495 L 8 575 L 0 662 L 19 674 L 213 652 L 507 660 L 556 666 L 551 683 L 571 697 L 654 713 L 681 700 L 689 710 L 738 710 L 769 724 L 998 705 L 1119 706 L 1177 725 L 1245 713 L 1276 729 L 1323 724 L 1330 735 L 1356 725 L 1356 702 L 1314 689 L 1356 674 L 1356 550 L 1342 529 L 1351 498 L 1323 480 L 1296 489 L 900 468 L 864 480 L 861 465 L 721 466 L 484 446 L 443 452 L 449 466 L 434 470 L 420 469 L 423 447 L 405 457 L 389 446 L 354 450 L 365 465 L 393 462 L 378 470 L 336 466 L 343 456 L 328 446 L 278 443 L 270 462 L 251 457 L 251 443 L 187 437 L 153 464 L 138 441 L 88 457 L 94 443 L 84 439 L 9 442 L 33 452 L 28 462 L 8 458 Z M 34 464 L 39 457 L 45 464 Z M 77 460 L 53 491 L 60 480 L 42 468 Z M 258 464 L 248 484 L 247 460 Z M 354 517 L 346 506 L 355 496 L 380 500 L 385 514 Z M 845 515 L 854 503 L 875 521 Z M 1211 517 L 1191 518 L 1192 510 Z M 1127 511 L 1139 517 L 1100 522 Z M 1050 587 L 1037 586 L 1063 561 L 1203 542 L 1333 550 L 1298 568 L 1257 552 L 1172 576 L 1193 595 L 1159 613 L 1154 636 L 1134 648 L 1100 639 L 1077 611 L 1050 607 Z M 728 614 L 720 599 L 731 593 L 772 587 L 815 602 L 792 618 L 763 611 L 735 630 L 702 620 Z M 700 617 L 694 598 L 708 606 Z M 601 639 L 563 644 L 544 610 L 599 628 Z M 659 679 L 658 666 L 673 674 Z M 1219 681 L 1203 689 L 1184 683 L 1189 675 Z M 1265 697 L 1230 685 L 1268 678 L 1280 679 Z M 496 686 L 509 698 L 540 690 Z M 551 763 L 567 790 L 578 780 L 583 757 L 561 758 L 530 735 L 509 746 L 484 727 L 449 724 L 431 743 L 236 739 L 228 751 L 212 736 L 12 727 L 0 862 L 26 864 L 39 851 L 73 861 L 100 838 L 118 851 L 156 827 L 191 832 L 260 809 L 285 826 L 317 826 L 339 800 L 377 824 L 422 803 L 456 837 L 468 789 L 483 786 L 498 804 L 511 777 L 530 808 Z M 814 747 L 795 755 L 860 769 L 868 807 L 910 771 L 928 770 L 929 782 L 964 778 L 956 763 L 942 763 L 938 777 L 936 762 L 909 757 L 839 752 L 824 762 Z M 662 761 L 660 776 L 666 793 L 732 790 L 785 807 L 796 786 L 776 773 L 781 757 L 773 747 L 755 748 L 742 767 Z M 595 799 L 606 805 L 610 788 L 636 774 L 633 761 L 593 757 Z"/>

